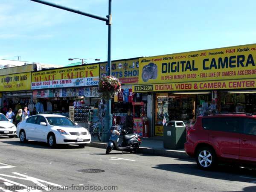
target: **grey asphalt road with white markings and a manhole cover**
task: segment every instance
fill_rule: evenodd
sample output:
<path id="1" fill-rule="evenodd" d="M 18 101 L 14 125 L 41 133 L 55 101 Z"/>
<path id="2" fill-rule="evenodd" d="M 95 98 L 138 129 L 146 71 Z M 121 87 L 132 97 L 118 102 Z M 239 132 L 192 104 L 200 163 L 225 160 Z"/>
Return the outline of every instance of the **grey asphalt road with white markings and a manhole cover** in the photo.
<path id="1" fill-rule="evenodd" d="M 254 192 L 256 172 L 228 166 L 206 172 L 197 169 L 194 161 L 119 151 L 105 155 L 105 149 L 75 145 L 52 149 L 44 143 L 21 144 L 17 138 L 0 137 L 0 192 L 14 192 L 15 187 L 18 192 L 84 192 L 91 187 L 125 192 Z"/>

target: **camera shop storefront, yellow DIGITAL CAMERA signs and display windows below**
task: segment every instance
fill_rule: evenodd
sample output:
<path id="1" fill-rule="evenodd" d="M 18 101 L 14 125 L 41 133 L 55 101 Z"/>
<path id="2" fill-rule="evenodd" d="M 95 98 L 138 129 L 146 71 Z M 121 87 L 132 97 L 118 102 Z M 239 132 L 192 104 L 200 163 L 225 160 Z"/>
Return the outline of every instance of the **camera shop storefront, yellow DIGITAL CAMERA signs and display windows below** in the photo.
<path id="1" fill-rule="evenodd" d="M 189 125 L 204 113 L 256 112 L 256 44 L 139 59 L 134 93 L 153 93 L 151 136 L 163 119 Z"/>

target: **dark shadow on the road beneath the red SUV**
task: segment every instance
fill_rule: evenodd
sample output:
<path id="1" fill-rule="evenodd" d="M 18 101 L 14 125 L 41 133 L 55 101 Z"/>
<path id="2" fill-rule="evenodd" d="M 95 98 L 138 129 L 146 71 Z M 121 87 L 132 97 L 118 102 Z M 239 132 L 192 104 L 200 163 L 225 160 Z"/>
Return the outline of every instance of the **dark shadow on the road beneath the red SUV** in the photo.
<path id="1" fill-rule="evenodd" d="M 183 173 L 187 175 L 195 175 L 199 177 L 219 179 L 219 180 L 256 182 L 256 169 L 245 168 L 245 167 L 235 168 L 231 166 L 221 165 L 221 166 L 217 166 L 215 168 L 215 171 L 204 171 L 204 170 L 198 169 L 196 163 L 193 163 L 193 164 L 159 164 L 153 168 L 170 171 L 170 172 Z M 256 191 L 256 188 L 254 188 L 254 191 Z"/>

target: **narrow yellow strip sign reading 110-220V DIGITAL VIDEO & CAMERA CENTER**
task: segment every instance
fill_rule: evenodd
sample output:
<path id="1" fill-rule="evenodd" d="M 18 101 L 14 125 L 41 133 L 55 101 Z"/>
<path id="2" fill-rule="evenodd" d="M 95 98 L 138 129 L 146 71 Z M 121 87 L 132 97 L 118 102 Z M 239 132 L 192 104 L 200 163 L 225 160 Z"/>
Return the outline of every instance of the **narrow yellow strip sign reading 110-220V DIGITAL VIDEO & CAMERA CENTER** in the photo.
<path id="1" fill-rule="evenodd" d="M 190 90 L 219 90 L 219 89 L 249 89 L 256 88 L 256 79 L 238 79 L 226 81 L 201 81 L 186 83 L 164 83 L 133 85 L 133 92 L 151 91 L 190 91 Z"/>

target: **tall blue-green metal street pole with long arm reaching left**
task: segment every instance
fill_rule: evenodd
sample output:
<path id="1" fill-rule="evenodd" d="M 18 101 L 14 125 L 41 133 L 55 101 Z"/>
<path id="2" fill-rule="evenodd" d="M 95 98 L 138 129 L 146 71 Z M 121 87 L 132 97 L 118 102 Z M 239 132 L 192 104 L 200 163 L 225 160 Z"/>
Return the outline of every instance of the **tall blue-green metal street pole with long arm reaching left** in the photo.
<path id="1" fill-rule="evenodd" d="M 98 15 L 81 12 L 79 10 L 70 9 L 68 7 L 60 6 L 55 3 L 50 3 L 50 2 L 47 2 L 44 0 L 31 0 L 31 1 L 34 1 L 37 3 L 42 3 L 44 5 L 52 6 L 52 7 L 58 8 L 58 9 L 63 9 L 63 10 L 69 11 L 69 12 L 77 13 L 79 15 L 84 15 L 87 17 L 92 17 L 94 19 L 105 21 L 106 25 L 108 25 L 108 64 L 107 64 L 106 70 L 107 70 L 107 75 L 108 76 L 111 75 L 111 22 L 112 22 L 111 3 L 112 3 L 112 0 L 108 0 L 108 15 L 106 17 L 101 17 Z M 82 63 L 83 63 L 83 61 L 82 61 Z M 111 100 L 106 101 L 106 102 L 107 102 L 106 103 L 107 110 L 106 110 L 106 115 L 105 115 L 105 130 L 104 130 L 104 133 L 102 134 L 102 141 L 108 141 L 109 137 L 111 135 L 111 133 L 110 133 L 110 125 L 112 125 L 112 122 L 111 122 L 111 120 L 112 120 L 112 118 L 111 118 Z"/>

